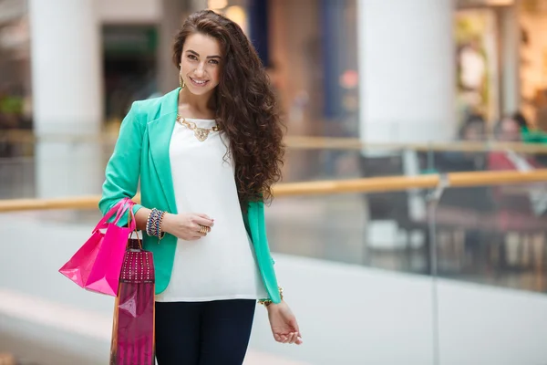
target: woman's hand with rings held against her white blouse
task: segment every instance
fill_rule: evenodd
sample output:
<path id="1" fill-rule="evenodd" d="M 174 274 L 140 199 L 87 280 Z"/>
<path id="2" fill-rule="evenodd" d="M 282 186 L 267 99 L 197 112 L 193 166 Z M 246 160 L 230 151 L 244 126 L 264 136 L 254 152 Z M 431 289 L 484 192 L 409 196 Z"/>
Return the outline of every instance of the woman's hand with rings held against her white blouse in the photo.
<path id="1" fill-rule="evenodd" d="M 207 233 L 211 232 L 214 220 L 207 214 L 165 214 L 161 229 L 170 235 L 174 235 L 184 241 L 195 241 L 207 235 L 201 234 L 201 225 L 205 225 Z"/>

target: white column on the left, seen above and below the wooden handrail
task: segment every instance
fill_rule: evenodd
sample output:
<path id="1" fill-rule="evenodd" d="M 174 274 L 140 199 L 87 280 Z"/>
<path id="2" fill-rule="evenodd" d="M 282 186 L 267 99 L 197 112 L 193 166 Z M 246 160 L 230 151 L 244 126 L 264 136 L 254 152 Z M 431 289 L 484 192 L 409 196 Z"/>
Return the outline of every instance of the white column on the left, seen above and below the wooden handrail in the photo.
<path id="1" fill-rule="evenodd" d="M 98 193 L 104 179 L 98 143 L 46 138 L 101 130 L 100 28 L 93 0 L 29 0 L 28 5 L 34 126 L 44 137 L 36 144 L 36 193 Z"/>

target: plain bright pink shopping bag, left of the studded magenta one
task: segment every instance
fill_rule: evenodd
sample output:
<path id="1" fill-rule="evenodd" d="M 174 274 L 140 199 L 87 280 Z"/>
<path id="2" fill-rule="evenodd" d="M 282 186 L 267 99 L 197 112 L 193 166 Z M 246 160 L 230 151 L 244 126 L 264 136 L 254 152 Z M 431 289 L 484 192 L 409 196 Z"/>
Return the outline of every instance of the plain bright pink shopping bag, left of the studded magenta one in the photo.
<path id="1" fill-rule="evenodd" d="M 100 220 L 88 241 L 77 250 L 59 272 L 79 287 L 116 297 L 119 273 L 131 232 L 136 222 L 132 213 L 133 202 L 122 199 Z M 119 219 L 129 210 L 127 227 L 118 225 Z M 117 214 L 113 223 L 108 223 Z M 106 230 L 104 233 L 101 230 Z"/>

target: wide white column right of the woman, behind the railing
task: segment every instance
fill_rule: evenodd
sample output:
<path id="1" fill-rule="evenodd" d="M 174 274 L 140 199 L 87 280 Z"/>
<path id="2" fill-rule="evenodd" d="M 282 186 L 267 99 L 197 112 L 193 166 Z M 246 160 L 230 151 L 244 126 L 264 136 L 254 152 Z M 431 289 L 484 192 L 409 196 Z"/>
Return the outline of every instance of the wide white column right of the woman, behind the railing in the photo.
<path id="1" fill-rule="evenodd" d="M 452 0 L 357 0 L 360 138 L 447 141 L 456 130 Z"/>

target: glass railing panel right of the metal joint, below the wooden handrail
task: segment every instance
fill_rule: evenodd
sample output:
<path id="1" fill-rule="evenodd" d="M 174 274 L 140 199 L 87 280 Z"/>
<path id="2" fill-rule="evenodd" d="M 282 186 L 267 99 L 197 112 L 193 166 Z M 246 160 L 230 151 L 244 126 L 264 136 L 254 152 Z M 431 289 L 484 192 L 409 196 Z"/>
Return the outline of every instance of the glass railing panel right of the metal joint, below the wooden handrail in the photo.
<path id="1" fill-rule="evenodd" d="M 544 185 L 447 189 L 435 211 L 439 276 L 547 292 Z"/>

